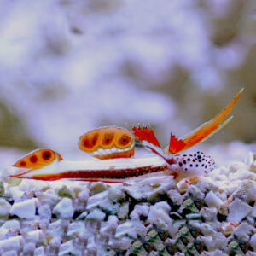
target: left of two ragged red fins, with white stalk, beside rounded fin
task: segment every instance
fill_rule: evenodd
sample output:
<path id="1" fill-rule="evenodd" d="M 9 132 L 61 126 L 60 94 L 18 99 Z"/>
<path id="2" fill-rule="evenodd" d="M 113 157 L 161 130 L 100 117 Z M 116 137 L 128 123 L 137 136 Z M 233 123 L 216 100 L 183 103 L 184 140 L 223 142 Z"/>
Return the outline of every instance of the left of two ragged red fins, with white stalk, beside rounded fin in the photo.
<path id="1" fill-rule="evenodd" d="M 155 137 L 152 129 L 148 128 L 147 126 L 133 126 L 131 129 L 144 148 L 149 149 L 166 160 L 166 154 L 161 148 L 160 143 Z"/>

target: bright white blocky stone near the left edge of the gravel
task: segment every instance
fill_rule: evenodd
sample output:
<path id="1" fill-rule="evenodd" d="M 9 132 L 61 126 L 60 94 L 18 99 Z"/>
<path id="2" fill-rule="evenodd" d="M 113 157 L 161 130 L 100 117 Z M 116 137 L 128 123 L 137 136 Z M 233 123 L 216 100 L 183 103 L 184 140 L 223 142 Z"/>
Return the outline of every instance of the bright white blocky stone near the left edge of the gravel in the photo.
<path id="1" fill-rule="evenodd" d="M 26 201 L 16 202 L 12 205 L 9 213 L 17 215 L 19 218 L 32 219 L 36 215 L 36 198 L 28 199 Z"/>

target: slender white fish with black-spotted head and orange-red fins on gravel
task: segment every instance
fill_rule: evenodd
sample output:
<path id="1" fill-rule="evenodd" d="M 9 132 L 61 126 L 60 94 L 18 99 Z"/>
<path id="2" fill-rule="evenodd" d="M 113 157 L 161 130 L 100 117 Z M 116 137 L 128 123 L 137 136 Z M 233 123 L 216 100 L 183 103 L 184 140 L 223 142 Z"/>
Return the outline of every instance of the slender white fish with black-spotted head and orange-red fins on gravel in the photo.
<path id="1" fill-rule="evenodd" d="M 106 183 L 125 182 L 133 177 L 155 175 L 173 175 L 177 181 L 193 178 L 211 172 L 215 166 L 210 156 L 197 152 L 195 154 L 177 154 L 201 143 L 224 125 L 230 122 L 224 118 L 230 113 L 240 98 L 242 90 L 233 98 L 215 118 L 201 125 L 181 139 L 172 133 L 168 147 L 162 149 L 154 131 L 148 127 L 132 127 L 132 131 L 110 126 L 89 131 L 79 138 L 79 148 L 95 159 L 83 161 L 63 160 L 61 155 L 47 148 L 38 149 L 22 157 L 15 167 L 26 168 L 11 177 L 38 180 L 72 180 L 102 181 Z M 135 137 L 144 148 L 156 156 L 135 158 Z"/>

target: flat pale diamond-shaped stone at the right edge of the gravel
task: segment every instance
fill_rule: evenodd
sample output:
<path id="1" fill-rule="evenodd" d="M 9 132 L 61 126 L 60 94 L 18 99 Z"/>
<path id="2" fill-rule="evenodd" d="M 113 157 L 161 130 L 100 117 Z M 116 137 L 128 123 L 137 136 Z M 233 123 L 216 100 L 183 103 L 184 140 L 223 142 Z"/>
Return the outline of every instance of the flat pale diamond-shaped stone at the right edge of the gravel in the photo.
<path id="1" fill-rule="evenodd" d="M 240 222 L 243 218 L 252 212 L 253 207 L 250 207 L 247 203 L 236 198 L 229 205 L 229 222 Z"/>

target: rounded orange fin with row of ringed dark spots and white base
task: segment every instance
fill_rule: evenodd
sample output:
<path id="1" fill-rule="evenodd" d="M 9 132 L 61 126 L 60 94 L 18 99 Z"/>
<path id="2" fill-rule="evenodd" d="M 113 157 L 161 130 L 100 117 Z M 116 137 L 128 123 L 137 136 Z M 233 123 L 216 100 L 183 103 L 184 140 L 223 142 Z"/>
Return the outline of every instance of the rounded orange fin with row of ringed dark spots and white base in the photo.
<path id="1" fill-rule="evenodd" d="M 84 133 L 79 138 L 79 148 L 101 160 L 130 158 L 134 155 L 134 136 L 124 128 L 102 127 Z"/>

